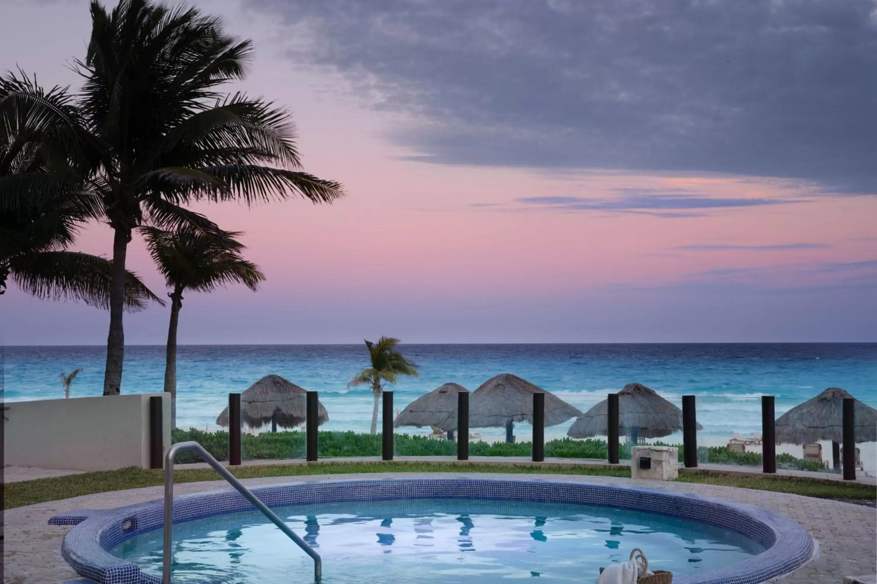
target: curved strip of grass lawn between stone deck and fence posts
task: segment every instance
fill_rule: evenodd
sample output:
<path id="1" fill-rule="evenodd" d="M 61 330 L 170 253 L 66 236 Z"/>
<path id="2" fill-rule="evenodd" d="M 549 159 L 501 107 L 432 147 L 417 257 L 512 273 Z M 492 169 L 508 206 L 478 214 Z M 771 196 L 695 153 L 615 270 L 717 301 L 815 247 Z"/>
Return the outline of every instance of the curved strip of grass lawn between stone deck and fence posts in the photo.
<path id="1" fill-rule="evenodd" d="M 324 463 L 319 466 L 307 465 L 260 465 L 233 468 L 232 474 L 241 479 L 266 476 L 299 475 L 337 475 L 346 473 L 429 473 L 429 472 L 467 472 L 467 473 L 516 473 L 519 475 L 600 475 L 630 477 L 629 468 L 540 468 L 532 466 L 470 464 L 455 465 L 442 462 L 361 462 Z M 175 482 L 216 481 L 219 477 L 211 468 L 185 469 L 175 471 Z M 877 489 L 866 485 L 846 483 L 825 483 L 806 479 L 749 478 L 730 475 L 688 474 L 681 475 L 684 482 L 703 482 L 740 487 L 794 493 L 816 497 L 843 497 L 849 499 L 875 499 Z M 120 470 L 85 473 L 82 475 L 58 476 L 26 482 L 11 482 L 4 485 L 4 508 L 11 509 L 22 505 L 32 505 L 66 499 L 73 496 L 90 495 L 121 489 L 138 489 L 159 486 L 164 482 L 161 470 L 142 468 L 122 468 Z"/>

